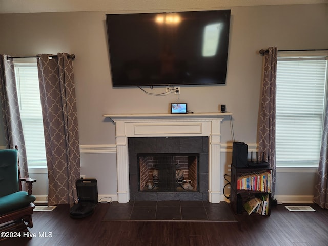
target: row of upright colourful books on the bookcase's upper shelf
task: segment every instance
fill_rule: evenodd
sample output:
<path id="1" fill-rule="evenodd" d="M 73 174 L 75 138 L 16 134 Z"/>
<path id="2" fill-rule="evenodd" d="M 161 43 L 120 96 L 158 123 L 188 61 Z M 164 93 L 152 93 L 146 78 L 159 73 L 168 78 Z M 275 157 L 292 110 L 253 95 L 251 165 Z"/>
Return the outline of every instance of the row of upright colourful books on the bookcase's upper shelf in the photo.
<path id="1" fill-rule="evenodd" d="M 271 193 L 271 183 L 272 170 L 250 172 L 237 178 L 237 189 Z"/>

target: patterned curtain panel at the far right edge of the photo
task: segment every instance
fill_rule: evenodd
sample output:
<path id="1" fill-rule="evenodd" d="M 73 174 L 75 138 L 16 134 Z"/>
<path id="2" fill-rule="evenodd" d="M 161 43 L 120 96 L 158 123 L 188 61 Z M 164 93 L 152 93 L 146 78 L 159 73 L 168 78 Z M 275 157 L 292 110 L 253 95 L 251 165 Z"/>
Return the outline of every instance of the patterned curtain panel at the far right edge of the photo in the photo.
<path id="1" fill-rule="evenodd" d="M 313 202 L 323 209 L 328 209 L 328 94 L 326 94 L 325 98 L 320 160 L 318 173 L 316 175 Z"/>

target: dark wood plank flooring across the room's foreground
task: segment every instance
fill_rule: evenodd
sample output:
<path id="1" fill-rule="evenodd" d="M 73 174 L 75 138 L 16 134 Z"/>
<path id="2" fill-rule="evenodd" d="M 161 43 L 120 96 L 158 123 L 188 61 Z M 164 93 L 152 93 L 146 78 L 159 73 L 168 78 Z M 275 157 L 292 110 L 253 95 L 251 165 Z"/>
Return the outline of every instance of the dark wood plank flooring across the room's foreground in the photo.
<path id="1" fill-rule="evenodd" d="M 13 238 L 0 245 L 328 245 L 328 210 L 316 212 L 272 208 L 271 216 L 236 215 L 238 222 L 104 221 L 110 204 L 95 213 L 72 219 L 67 205 L 51 212 L 34 212 L 32 239 Z M 48 237 L 46 237 L 48 236 Z"/>

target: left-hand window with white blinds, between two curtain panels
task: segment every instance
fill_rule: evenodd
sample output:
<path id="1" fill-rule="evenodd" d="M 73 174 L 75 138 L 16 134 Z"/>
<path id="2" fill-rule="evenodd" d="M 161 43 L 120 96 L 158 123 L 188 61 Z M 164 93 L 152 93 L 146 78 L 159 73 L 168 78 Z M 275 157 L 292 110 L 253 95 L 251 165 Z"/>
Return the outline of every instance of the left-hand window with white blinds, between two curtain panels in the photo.
<path id="1" fill-rule="evenodd" d="M 14 67 L 28 166 L 44 167 L 46 147 L 36 58 L 16 58 Z"/>

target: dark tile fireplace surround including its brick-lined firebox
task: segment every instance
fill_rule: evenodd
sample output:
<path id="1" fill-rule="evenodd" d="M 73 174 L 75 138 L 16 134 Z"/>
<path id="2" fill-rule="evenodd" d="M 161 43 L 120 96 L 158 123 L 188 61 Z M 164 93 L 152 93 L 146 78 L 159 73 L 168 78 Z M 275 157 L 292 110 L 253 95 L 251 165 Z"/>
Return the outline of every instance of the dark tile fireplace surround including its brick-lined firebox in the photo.
<path id="1" fill-rule="evenodd" d="M 130 200 L 208 201 L 208 137 L 131 137 Z"/>

